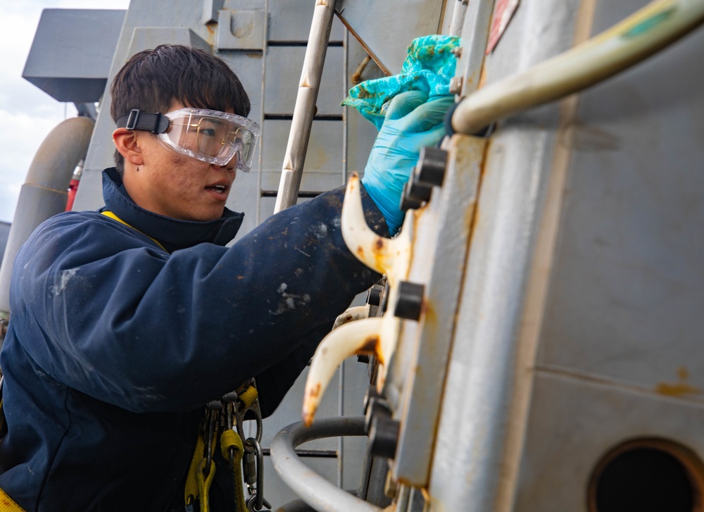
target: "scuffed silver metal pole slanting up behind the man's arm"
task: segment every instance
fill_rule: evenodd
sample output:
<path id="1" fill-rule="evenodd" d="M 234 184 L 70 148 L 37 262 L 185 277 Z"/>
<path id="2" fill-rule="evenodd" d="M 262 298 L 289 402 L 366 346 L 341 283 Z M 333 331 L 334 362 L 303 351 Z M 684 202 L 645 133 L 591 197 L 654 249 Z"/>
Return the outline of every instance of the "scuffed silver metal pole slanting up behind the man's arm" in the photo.
<path id="1" fill-rule="evenodd" d="M 315 115 L 315 101 L 318 100 L 334 13 L 335 0 L 315 0 L 313 23 L 310 24 L 306 56 L 303 58 L 301 80 L 298 82 L 294 117 L 291 120 L 274 213 L 293 206 L 298 199 L 298 188 L 301 186 L 303 163 L 306 161 L 310 128 L 313 126 Z"/>

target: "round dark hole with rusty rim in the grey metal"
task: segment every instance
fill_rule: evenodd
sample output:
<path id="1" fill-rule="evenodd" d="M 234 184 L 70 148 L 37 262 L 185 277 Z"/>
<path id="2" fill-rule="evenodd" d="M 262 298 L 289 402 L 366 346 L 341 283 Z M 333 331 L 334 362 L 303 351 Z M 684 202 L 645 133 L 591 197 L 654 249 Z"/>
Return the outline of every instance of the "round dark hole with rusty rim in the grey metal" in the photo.
<path id="1" fill-rule="evenodd" d="M 634 439 L 598 462 L 589 512 L 704 512 L 704 465 L 667 439 Z"/>

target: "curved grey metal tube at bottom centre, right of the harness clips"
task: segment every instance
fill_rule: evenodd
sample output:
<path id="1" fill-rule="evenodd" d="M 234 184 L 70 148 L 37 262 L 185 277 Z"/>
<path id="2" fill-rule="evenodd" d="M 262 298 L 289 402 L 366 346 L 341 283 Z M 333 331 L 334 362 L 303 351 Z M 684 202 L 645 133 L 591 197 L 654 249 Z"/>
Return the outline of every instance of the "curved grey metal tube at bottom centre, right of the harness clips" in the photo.
<path id="1" fill-rule="evenodd" d="M 364 416 L 324 418 L 311 427 L 302 422 L 293 423 L 274 437 L 271 462 L 284 483 L 318 512 L 382 512 L 383 508 L 328 482 L 296 455 L 296 447 L 313 439 L 363 435 Z"/>

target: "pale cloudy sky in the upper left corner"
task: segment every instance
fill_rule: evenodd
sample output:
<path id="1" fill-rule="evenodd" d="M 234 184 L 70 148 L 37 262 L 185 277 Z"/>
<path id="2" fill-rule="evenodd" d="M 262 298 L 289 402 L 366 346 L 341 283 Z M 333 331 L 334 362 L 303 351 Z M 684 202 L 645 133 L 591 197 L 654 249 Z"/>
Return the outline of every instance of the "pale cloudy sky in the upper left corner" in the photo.
<path id="1" fill-rule="evenodd" d="M 76 109 L 22 77 L 45 8 L 127 9 L 130 0 L 0 0 L 0 221 L 12 222 L 20 187 L 44 137 Z"/>

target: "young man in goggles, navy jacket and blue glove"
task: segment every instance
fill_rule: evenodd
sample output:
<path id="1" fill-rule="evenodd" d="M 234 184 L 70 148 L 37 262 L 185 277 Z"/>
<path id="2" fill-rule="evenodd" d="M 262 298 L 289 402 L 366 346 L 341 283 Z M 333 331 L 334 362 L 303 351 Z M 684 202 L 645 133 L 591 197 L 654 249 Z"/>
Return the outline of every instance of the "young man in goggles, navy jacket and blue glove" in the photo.
<path id="1" fill-rule="evenodd" d="M 106 206 L 47 220 L 14 266 L 0 354 L 0 502 L 13 510 L 184 510 L 205 404 L 256 377 L 271 413 L 337 315 L 379 278 L 341 237 L 343 189 L 225 247 L 242 219 L 225 201 L 249 171 L 258 126 L 220 59 L 142 51 L 111 99 Z M 367 166 L 391 230 L 403 218 L 399 185 L 441 137 L 450 104 L 426 99 L 397 96 Z M 386 233 L 366 190 L 363 202 Z M 231 481 L 211 487 L 214 512 L 234 510 Z"/>

